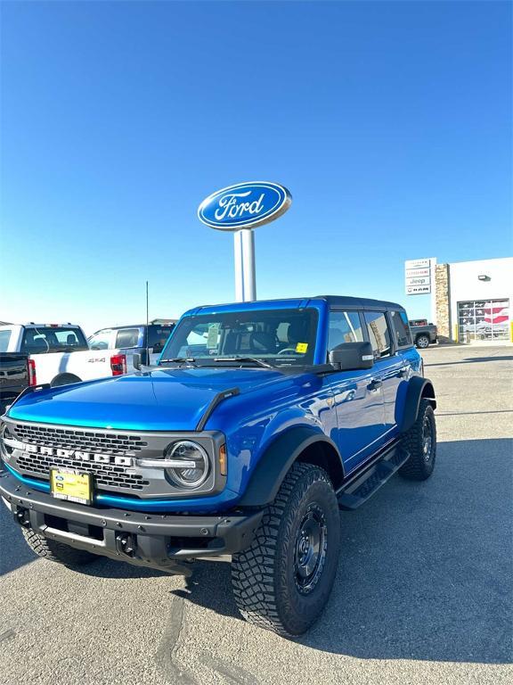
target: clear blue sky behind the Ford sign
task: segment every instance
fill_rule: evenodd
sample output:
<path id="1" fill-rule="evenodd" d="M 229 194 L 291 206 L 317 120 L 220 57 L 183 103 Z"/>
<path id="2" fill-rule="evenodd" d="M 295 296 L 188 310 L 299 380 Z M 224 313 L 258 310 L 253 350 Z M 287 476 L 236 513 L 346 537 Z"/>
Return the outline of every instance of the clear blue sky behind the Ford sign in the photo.
<path id="1" fill-rule="evenodd" d="M 208 194 L 288 186 L 260 299 L 405 303 L 403 260 L 511 254 L 507 2 L 3 2 L 0 319 L 92 332 L 232 301 Z"/>

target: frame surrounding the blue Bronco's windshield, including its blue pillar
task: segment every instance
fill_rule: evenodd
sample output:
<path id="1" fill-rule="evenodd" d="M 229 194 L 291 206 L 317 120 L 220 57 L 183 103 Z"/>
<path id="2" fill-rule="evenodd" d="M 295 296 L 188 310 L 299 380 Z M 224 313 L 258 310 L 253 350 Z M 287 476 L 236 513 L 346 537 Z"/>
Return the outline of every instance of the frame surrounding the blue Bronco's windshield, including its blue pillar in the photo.
<path id="1" fill-rule="evenodd" d="M 299 302 L 301 304 L 304 302 L 305 306 L 300 306 Z M 311 341 L 312 344 L 314 344 L 314 354 L 313 356 L 310 356 L 309 361 L 303 361 L 301 358 L 283 358 L 283 361 L 279 358 L 278 355 L 262 355 L 259 356 L 257 352 L 245 352 L 245 351 L 240 351 L 234 354 L 228 354 L 226 353 L 226 357 L 228 358 L 233 358 L 233 357 L 242 357 L 242 358 L 248 358 L 248 357 L 254 357 L 256 359 L 262 359 L 263 361 L 267 362 L 268 364 L 272 365 L 275 367 L 277 370 L 284 370 L 287 368 L 290 368 L 291 370 L 296 368 L 306 368 L 306 367 L 312 367 L 317 364 L 324 364 L 326 362 L 326 332 L 325 332 L 325 326 L 326 326 L 326 306 L 327 303 L 325 301 L 259 301 L 259 302 L 251 302 L 251 303 L 242 303 L 240 304 L 234 304 L 234 305 L 222 305 L 220 307 L 208 307 L 208 308 L 201 308 L 201 309 L 192 309 L 189 312 L 186 312 L 182 318 L 176 323 L 175 328 L 173 329 L 171 335 L 167 339 L 167 344 L 164 347 L 164 350 L 162 351 L 161 355 L 159 356 L 158 360 L 158 365 L 159 366 L 166 366 L 167 363 L 172 363 L 172 362 L 166 362 L 166 359 L 172 359 L 175 358 L 175 354 L 173 351 L 171 351 L 170 346 L 175 342 L 175 335 L 181 334 L 183 330 L 183 326 L 185 324 L 190 325 L 191 324 L 191 318 L 194 319 L 205 319 L 208 320 L 208 318 L 212 319 L 213 321 L 216 320 L 218 317 L 223 317 L 226 315 L 231 315 L 231 314 L 254 314 L 255 318 L 258 318 L 259 314 L 264 314 L 264 312 L 269 312 L 269 314 L 278 314 L 280 310 L 286 310 L 286 311 L 294 311 L 297 310 L 297 312 L 305 311 L 306 309 L 313 310 L 313 326 L 314 329 L 312 331 L 312 336 L 311 336 Z M 219 359 L 220 357 L 223 357 L 224 355 L 219 355 L 216 354 L 216 359 Z M 287 359 L 287 360 L 286 360 Z M 278 363 L 275 363 L 278 361 Z M 222 362 L 220 359 L 216 362 L 214 362 L 214 355 L 212 359 L 209 357 L 195 357 L 193 359 L 194 362 L 194 367 L 199 367 L 199 368 L 226 368 L 228 366 L 230 367 L 252 367 L 252 368 L 261 368 L 263 369 L 263 366 L 259 366 L 257 364 L 251 364 L 249 361 L 244 361 L 241 360 L 240 362 L 238 361 L 232 361 L 232 364 L 230 364 L 229 359 L 227 359 L 226 363 Z"/>

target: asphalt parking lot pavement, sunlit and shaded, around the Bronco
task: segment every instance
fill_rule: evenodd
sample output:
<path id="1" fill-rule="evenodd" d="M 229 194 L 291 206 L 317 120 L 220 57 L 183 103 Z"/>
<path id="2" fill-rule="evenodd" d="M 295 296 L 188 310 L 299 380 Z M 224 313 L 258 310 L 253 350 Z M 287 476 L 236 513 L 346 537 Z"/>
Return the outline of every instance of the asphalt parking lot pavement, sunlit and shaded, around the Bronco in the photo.
<path id="1" fill-rule="evenodd" d="M 182 577 L 35 560 L 0 511 L 0 682 L 513 681 L 513 347 L 423 352 L 438 396 L 433 477 L 341 514 L 338 578 L 312 631 L 240 620 L 229 566 Z"/>

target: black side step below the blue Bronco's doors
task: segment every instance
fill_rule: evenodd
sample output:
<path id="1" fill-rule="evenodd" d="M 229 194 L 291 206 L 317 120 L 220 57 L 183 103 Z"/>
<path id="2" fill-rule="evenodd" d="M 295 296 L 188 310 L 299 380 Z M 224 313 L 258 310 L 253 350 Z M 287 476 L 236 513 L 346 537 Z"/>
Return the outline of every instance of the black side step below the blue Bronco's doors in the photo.
<path id="1" fill-rule="evenodd" d="M 387 480 L 409 458 L 410 452 L 404 450 L 400 445 L 388 450 L 378 461 L 365 469 L 362 475 L 357 475 L 346 486 L 342 486 L 343 489 L 338 494 L 338 508 L 356 509 L 361 507 L 363 502 L 370 499 L 381 485 L 387 483 Z"/>

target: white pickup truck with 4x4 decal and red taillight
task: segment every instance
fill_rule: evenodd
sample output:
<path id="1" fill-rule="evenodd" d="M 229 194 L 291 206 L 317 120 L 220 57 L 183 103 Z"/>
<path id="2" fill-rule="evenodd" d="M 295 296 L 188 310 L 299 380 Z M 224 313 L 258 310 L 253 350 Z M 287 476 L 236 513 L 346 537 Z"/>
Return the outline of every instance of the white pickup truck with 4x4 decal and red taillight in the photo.
<path id="1" fill-rule="evenodd" d="M 89 349 L 80 326 L 9 324 L 0 326 L 0 352 L 28 354 L 28 384 L 53 387 L 126 374 L 126 355 Z"/>

